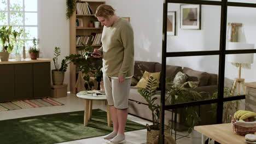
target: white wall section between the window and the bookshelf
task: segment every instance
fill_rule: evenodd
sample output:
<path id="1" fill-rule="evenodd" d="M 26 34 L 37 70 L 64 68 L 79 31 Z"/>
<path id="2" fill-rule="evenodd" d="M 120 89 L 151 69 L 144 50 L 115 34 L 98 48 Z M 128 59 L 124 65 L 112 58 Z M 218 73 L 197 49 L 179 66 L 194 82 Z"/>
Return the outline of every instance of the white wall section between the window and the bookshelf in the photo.
<path id="1" fill-rule="evenodd" d="M 66 1 L 38 0 L 38 23 L 39 49 L 42 50 L 42 56 L 52 59 L 54 47 L 61 47 L 59 61 L 61 64 L 61 60 L 69 55 L 69 20 L 66 20 Z M 55 69 L 53 62 L 51 69 Z M 65 73 L 64 82 L 69 83 L 69 69 Z"/>

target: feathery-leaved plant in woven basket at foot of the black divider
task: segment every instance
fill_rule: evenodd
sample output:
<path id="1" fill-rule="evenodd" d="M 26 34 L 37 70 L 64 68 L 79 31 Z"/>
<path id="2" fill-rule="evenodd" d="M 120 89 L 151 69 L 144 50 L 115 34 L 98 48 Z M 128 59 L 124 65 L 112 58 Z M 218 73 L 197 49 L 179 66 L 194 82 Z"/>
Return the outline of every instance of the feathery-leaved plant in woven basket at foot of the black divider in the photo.
<path id="1" fill-rule="evenodd" d="M 155 100 L 158 99 L 154 97 L 156 94 L 156 87 L 158 83 L 154 77 L 150 76 L 147 82 L 146 88 L 138 89 L 139 94 L 147 101 L 148 108 L 151 111 L 152 123 L 153 125 L 147 124 L 147 143 L 154 143 L 159 135 L 159 124 L 160 124 L 160 105 L 155 104 Z M 170 128 L 165 125 L 165 134 L 170 134 Z"/>

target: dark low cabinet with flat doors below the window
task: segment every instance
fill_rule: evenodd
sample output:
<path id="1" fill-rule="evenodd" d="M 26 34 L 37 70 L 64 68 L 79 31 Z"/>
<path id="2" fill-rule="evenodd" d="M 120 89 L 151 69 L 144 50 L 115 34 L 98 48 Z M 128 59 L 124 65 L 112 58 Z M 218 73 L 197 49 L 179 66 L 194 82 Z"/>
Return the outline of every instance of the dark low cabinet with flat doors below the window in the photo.
<path id="1" fill-rule="evenodd" d="M 50 62 L 0 64 L 0 101 L 50 97 Z"/>

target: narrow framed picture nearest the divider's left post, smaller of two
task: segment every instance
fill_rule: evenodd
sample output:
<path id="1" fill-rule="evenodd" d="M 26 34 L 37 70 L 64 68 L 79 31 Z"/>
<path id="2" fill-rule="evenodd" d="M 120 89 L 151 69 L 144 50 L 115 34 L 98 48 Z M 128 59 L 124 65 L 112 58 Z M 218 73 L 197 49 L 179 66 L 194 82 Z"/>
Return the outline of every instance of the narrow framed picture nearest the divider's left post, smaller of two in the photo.
<path id="1" fill-rule="evenodd" d="M 176 35 L 176 11 L 167 12 L 167 35 Z"/>

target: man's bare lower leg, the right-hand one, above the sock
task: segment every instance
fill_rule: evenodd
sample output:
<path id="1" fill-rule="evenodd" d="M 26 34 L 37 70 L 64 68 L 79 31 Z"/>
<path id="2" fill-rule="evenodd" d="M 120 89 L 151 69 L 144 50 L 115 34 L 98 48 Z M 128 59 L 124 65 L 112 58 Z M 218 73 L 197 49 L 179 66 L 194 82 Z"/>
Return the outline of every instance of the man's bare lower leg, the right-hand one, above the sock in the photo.
<path id="1" fill-rule="evenodd" d="M 117 119 L 118 119 L 118 133 L 124 135 L 125 125 L 127 121 L 128 109 L 119 110 L 117 109 Z"/>

